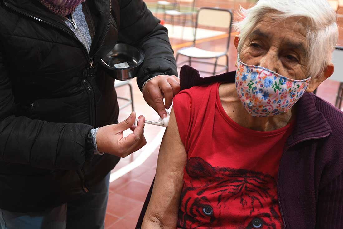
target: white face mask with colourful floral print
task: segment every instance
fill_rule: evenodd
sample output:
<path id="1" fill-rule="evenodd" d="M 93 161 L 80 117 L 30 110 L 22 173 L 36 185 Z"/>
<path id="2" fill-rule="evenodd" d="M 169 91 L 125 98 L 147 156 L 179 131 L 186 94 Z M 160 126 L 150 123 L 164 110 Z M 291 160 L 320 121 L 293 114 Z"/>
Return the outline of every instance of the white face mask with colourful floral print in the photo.
<path id="1" fill-rule="evenodd" d="M 245 109 L 253 117 L 283 113 L 304 95 L 311 77 L 289 79 L 270 69 L 247 65 L 237 59 L 236 89 Z"/>

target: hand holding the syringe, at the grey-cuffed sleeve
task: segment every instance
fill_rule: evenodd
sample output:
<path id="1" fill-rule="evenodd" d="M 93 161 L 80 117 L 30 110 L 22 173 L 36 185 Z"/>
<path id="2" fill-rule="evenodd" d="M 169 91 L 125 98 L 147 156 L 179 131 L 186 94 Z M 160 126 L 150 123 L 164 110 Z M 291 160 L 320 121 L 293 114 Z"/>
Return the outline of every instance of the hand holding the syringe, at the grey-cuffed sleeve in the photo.
<path id="1" fill-rule="evenodd" d="M 133 111 L 126 120 L 99 128 L 96 134 L 96 145 L 100 153 L 108 153 L 118 157 L 126 157 L 141 149 L 145 144 L 144 121 L 141 115 L 137 127 L 134 126 L 136 113 Z M 133 133 L 123 138 L 123 131 L 131 129 Z"/>

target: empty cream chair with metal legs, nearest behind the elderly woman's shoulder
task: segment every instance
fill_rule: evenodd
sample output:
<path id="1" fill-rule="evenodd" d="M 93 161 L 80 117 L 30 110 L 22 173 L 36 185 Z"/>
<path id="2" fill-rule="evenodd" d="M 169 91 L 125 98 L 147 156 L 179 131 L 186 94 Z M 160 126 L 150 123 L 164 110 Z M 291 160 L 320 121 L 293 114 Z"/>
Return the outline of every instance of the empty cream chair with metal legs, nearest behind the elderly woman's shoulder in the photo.
<path id="1" fill-rule="evenodd" d="M 179 65 L 182 65 L 184 63 L 189 64 L 191 66 L 192 62 L 196 63 L 203 63 L 203 64 L 211 64 L 214 65 L 213 72 L 206 72 L 201 71 L 204 73 L 209 73 L 215 75 L 218 72 L 222 71 L 228 71 L 229 69 L 229 56 L 228 56 L 228 50 L 229 50 L 229 44 L 231 39 L 231 30 L 232 30 L 232 21 L 233 21 L 233 14 L 231 10 L 227 9 L 219 9 L 219 8 L 201 8 L 198 10 L 197 14 L 197 22 L 195 27 L 195 34 L 194 34 L 194 41 L 193 45 L 191 47 L 182 48 L 177 52 L 176 55 L 176 63 L 178 61 L 179 55 L 184 55 L 188 57 L 188 61 L 184 61 L 179 63 Z M 209 26 L 209 27 L 216 27 L 216 28 L 222 28 L 226 30 L 227 33 L 227 44 L 226 44 L 226 50 L 222 52 L 217 51 L 208 51 L 203 50 L 201 48 L 195 47 L 196 40 L 197 40 L 197 29 L 198 26 Z M 218 59 L 222 56 L 226 56 L 226 65 L 219 65 Z M 209 63 L 204 61 L 192 61 L 191 58 L 198 58 L 198 59 L 213 59 L 215 58 L 215 63 Z M 224 67 L 223 69 L 217 71 L 217 66 Z"/>

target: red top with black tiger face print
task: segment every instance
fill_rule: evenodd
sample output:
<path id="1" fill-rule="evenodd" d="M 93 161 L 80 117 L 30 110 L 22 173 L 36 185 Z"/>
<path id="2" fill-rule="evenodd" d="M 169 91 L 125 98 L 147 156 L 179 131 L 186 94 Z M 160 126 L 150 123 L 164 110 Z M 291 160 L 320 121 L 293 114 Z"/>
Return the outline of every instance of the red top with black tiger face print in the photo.
<path id="1" fill-rule="evenodd" d="M 221 105 L 219 85 L 174 98 L 188 154 L 177 228 L 283 228 L 276 182 L 294 123 L 268 132 L 240 126 Z"/>

